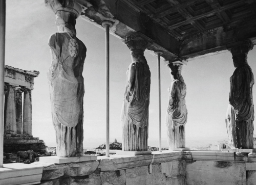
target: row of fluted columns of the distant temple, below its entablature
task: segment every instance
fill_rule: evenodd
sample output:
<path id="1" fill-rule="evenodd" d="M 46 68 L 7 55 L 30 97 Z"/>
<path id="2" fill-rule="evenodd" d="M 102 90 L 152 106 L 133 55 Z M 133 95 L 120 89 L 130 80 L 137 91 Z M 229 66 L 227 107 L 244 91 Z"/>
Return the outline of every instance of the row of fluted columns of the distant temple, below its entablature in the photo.
<path id="1" fill-rule="evenodd" d="M 4 134 L 32 135 L 31 108 L 31 89 L 5 85 Z"/>

